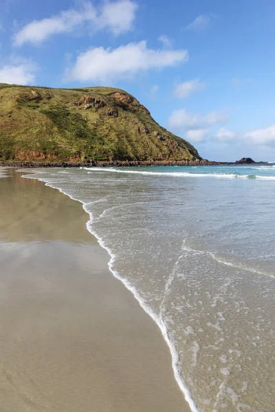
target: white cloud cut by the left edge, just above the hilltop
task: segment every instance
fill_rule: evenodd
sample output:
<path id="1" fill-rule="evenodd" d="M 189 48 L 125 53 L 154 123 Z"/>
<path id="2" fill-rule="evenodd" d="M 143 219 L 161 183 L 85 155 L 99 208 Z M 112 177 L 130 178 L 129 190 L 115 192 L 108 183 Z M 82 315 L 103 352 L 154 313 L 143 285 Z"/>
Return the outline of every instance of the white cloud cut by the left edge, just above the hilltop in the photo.
<path id="1" fill-rule="evenodd" d="M 31 63 L 0 67 L 0 83 L 34 84 L 35 71 L 36 67 Z"/>

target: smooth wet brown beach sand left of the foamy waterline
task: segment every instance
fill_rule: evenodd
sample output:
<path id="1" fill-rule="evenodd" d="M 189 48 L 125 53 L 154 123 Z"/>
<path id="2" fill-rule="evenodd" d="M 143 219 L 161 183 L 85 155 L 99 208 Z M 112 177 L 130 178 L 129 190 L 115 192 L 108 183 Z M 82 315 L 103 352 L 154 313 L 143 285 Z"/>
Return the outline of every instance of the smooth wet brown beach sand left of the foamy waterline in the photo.
<path id="1" fill-rule="evenodd" d="M 89 216 L 0 179 L 0 411 L 187 412 L 159 328 L 107 267 Z"/>

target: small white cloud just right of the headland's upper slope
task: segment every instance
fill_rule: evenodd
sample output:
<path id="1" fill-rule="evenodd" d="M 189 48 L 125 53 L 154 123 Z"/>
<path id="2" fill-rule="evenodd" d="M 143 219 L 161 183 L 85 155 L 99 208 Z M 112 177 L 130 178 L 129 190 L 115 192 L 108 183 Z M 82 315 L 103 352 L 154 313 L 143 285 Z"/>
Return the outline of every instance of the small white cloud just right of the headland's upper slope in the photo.
<path id="1" fill-rule="evenodd" d="M 216 124 L 224 124 L 228 121 L 228 115 L 222 111 L 212 111 L 207 115 L 190 113 L 185 108 L 173 111 L 168 118 L 168 124 L 172 128 L 198 129 L 207 128 Z"/>

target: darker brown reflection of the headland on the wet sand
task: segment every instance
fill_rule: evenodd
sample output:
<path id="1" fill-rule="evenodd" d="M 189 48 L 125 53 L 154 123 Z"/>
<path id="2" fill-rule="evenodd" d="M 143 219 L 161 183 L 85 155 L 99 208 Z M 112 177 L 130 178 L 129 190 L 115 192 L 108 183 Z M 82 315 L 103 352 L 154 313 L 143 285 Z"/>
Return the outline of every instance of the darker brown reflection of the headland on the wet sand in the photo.
<path id="1" fill-rule="evenodd" d="M 23 179 L 13 169 L 1 179 L 0 236 L 12 242 L 32 240 L 89 242 L 89 215 L 82 205 L 35 179 Z"/>

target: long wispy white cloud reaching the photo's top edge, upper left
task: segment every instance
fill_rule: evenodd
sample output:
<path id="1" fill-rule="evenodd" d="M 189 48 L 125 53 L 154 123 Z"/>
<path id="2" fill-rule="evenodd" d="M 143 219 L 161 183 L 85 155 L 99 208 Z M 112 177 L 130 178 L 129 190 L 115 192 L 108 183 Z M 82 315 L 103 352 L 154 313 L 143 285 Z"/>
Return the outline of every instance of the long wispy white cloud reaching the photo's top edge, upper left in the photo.
<path id="1" fill-rule="evenodd" d="M 90 1 L 83 3 L 81 10 L 66 10 L 47 19 L 32 21 L 25 25 L 14 38 L 14 43 L 39 44 L 54 34 L 72 32 L 85 22 L 93 23 L 94 30 L 109 30 L 118 35 L 131 30 L 137 4 L 131 0 L 118 0 L 102 5 L 100 12 Z"/>

